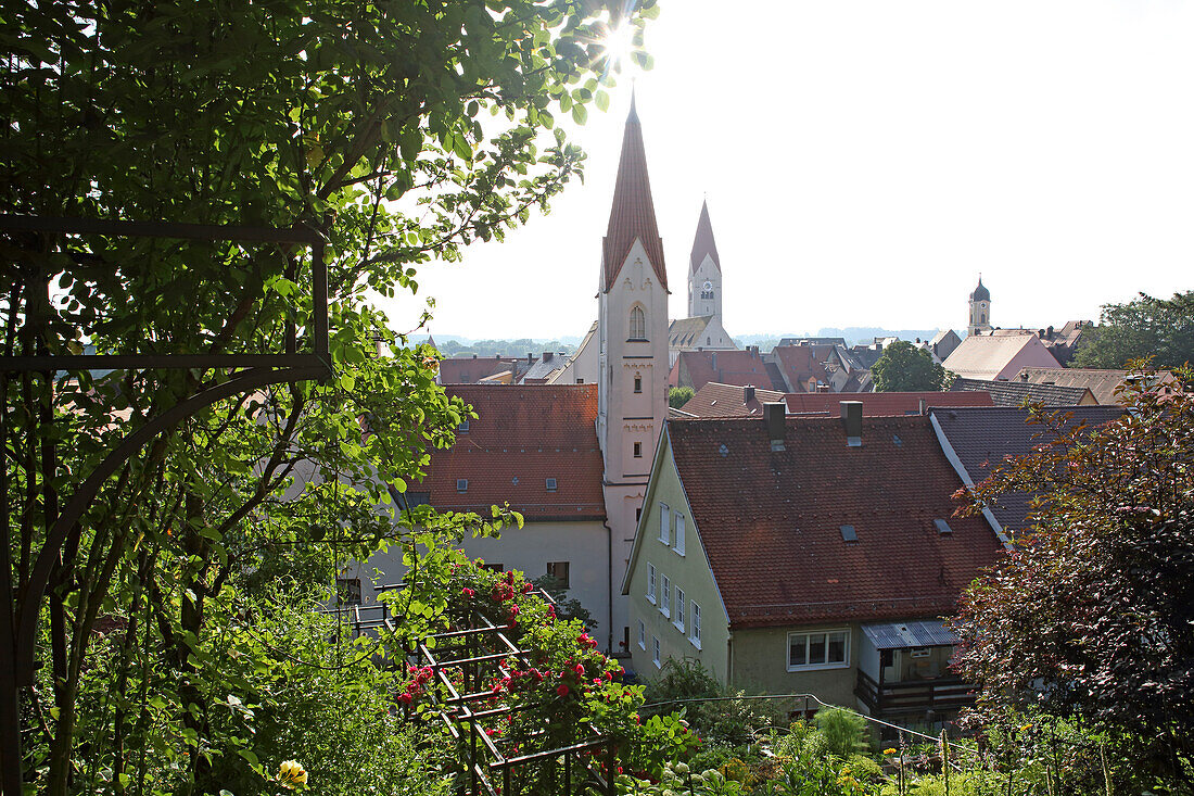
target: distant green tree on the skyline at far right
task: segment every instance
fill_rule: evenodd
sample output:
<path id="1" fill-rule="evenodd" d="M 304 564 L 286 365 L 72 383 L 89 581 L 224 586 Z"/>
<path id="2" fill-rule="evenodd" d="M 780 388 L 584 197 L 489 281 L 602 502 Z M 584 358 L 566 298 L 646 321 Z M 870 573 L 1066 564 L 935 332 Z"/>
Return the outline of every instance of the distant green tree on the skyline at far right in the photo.
<path id="1" fill-rule="evenodd" d="M 1163 368 L 1194 362 L 1194 290 L 1168 300 L 1141 293 L 1127 304 L 1104 304 L 1100 325 L 1079 338 L 1073 366 L 1122 368 L 1150 356 Z"/>

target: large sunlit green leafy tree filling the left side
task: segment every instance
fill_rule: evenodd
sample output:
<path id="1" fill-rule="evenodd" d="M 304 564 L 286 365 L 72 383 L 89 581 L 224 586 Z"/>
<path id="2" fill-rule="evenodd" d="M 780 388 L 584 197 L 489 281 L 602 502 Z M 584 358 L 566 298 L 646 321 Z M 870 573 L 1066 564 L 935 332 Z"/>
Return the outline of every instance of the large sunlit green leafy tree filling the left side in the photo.
<path id="1" fill-rule="evenodd" d="M 235 777 L 264 786 L 278 763 L 264 752 L 284 751 L 259 730 L 288 697 L 252 718 L 235 709 L 230 697 L 257 699 L 256 667 L 370 665 L 291 653 L 289 624 L 267 656 L 229 645 L 272 611 L 266 586 L 312 599 L 346 561 L 416 528 L 500 525 L 426 507 L 378 514 L 387 488 L 418 478 L 424 451 L 449 443 L 467 409 L 433 384 L 433 353 L 389 331 L 367 295 L 416 292 L 414 265 L 500 239 L 580 173 L 579 149 L 559 130 L 541 134 L 553 114 L 583 122 L 590 103 L 608 103 L 601 42 L 621 4 L 609 16 L 605 5 L 76 0 L 0 11 L 6 213 L 312 228 L 327 240 L 332 319 L 326 384 L 247 391 L 159 435 L 104 485 L 61 557 L 42 549 L 45 518 L 76 476 L 236 374 L 0 381 L 13 408 L 0 425 L 13 604 L 41 601 L 25 592 L 38 556 L 57 562 L 39 626 L 45 666 L 21 714 L 21 763 L 38 790 L 219 792 Z M 493 115 L 485 125 L 482 111 Z M 288 325 L 312 323 L 310 256 L 296 247 L 55 233 L 0 243 L 7 354 L 82 343 L 278 351 Z M 376 356 L 378 338 L 390 356 Z M 38 445 L 49 439 L 59 459 Z M 45 483 L 43 466 L 56 473 Z M 361 682 L 328 678 L 321 698 Z M 338 737 L 325 730 L 306 728 L 306 741 Z"/>

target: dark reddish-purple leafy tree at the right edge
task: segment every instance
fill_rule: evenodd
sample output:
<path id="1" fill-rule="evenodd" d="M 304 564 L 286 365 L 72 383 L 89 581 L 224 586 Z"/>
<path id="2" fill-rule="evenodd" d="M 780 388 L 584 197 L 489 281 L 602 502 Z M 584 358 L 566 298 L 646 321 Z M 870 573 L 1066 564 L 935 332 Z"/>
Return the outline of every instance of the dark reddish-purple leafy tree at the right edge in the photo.
<path id="1" fill-rule="evenodd" d="M 955 660 L 980 717 L 1077 718 L 1173 778 L 1194 764 L 1194 397 L 1145 384 L 1100 429 L 1038 409 L 1034 453 L 975 488 L 971 512 L 1035 495 L 1034 525 L 962 600 Z"/>

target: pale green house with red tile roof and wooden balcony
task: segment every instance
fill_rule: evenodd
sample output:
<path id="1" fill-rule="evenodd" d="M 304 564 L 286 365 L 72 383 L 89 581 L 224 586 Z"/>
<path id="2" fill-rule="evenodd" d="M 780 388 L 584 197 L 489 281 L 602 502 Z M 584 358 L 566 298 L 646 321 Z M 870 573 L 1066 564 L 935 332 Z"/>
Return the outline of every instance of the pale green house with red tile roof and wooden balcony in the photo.
<path id="1" fill-rule="evenodd" d="M 961 480 L 928 417 L 861 409 L 666 423 L 622 583 L 639 676 L 691 659 L 891 717 L 971 699 L 942 619 L 1003 545 L 953 516 Z"/>

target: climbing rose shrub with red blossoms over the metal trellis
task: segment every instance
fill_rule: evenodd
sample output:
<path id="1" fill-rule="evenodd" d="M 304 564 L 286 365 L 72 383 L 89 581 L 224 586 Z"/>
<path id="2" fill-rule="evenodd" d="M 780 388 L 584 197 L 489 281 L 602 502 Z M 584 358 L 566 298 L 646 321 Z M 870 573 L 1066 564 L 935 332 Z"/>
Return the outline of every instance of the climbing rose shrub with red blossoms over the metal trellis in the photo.
<path id="1" fill-rule="evenodd" d="M 425 641 L 436 643 L 437 661 L 500 655 L 509 648 L 499 641 L 499 631 L 521 650 L 487 661 L 475 673 L 450 663 L 441 669 L 458 693 L 487 692 L 479 699 L 481 710 L 505 709 L 484 725 L 505 757 L 599 736 L 614 747 L 614 776 L 632 771 L 658 776 L 665 760 L 683 757 L 697 745 L 677 717 L 640 720 L 642 686 L 624 685 L 624 669 L 598 651 L 597 639 L 583 623 L 559 620 L 554 605 L 521 572 L 485 569 L 484 562 L 469 561 L 455 550 L 412 556 L 411 563 L 407 587 L 383 598 L 405 618 L 384 638 L 392 653 L 405 657 Z M 484 627 L 486 622 L 494 625 L 493 631 L 432 638 L 435 633 Z M 421 632 L 412 632 L 412 626 Z M 448 687 L 432 667 L 413 666 L 402 680 L 398 702 L 418 717 L 438 710 L 447 696 Z M 593 765 L 608 774 L 605 748 L 590 754 Z M 521 776 L 534 782 L 549 772 L 547 766 L 528 766 Z"/>

